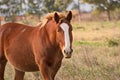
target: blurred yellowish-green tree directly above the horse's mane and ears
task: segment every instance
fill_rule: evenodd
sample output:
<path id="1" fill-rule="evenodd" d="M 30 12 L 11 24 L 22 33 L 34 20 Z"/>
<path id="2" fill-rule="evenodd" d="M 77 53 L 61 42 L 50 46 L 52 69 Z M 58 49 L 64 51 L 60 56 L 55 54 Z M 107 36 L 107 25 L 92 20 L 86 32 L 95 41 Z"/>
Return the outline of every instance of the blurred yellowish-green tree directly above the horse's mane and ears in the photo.
<path id="1" fill-rule="evenodd" d="M 53 12 L 53 11 L 64 11 L 72 0 L 44 0 L 42 11 Z"/>

